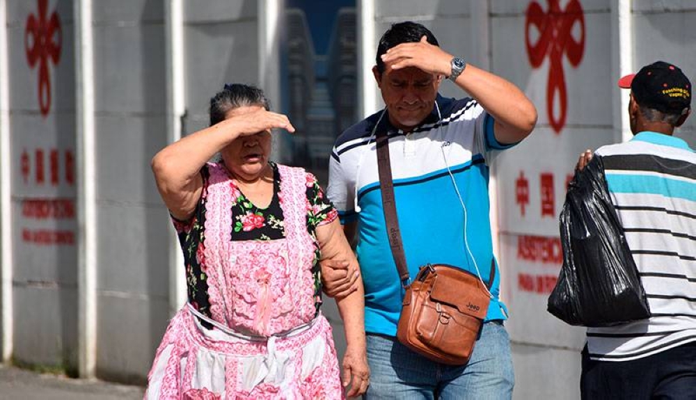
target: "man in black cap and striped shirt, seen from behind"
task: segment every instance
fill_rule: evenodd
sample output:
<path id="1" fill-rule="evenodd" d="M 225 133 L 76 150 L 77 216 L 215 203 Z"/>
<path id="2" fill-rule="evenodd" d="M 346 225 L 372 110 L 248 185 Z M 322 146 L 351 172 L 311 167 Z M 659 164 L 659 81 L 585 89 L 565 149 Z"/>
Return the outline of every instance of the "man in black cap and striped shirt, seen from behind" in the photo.
<path id="1" fill-rule="evenodd" d="M 690 113 L 691 83 L 678 67 L 658 61 L 623 77 L 619 87 L 631 89 L 635 136 L 595 155 L 651 317 L 587 329 L 582 397 L 696 399 L 696 154 L 672 136 Z"/>

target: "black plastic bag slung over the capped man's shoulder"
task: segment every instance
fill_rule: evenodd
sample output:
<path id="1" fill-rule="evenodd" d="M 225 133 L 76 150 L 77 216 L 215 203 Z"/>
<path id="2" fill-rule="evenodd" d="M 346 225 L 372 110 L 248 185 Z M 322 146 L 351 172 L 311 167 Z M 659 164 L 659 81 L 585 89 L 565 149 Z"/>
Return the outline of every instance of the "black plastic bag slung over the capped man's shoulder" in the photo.
<path id="1" fill-rule="evenodd" d="M 569 185 L 560 234 L 563 266 L 548 297 L 548 312 L 580 326 L 614 326 L 650 317 L 596 154 Z"/>

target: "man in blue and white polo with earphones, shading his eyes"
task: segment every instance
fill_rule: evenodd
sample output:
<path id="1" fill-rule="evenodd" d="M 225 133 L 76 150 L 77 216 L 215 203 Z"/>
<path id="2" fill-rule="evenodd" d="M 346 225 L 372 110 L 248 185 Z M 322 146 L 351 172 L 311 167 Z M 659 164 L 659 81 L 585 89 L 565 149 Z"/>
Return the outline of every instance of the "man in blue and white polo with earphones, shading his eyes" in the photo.
<path id="1" fill-rule="evenodd" d="M 514 375 L 493 257 L 489 163 L 530 134 L 537 111 L 509 81 L 443 51 L 421 24 L 393 24 L 376 61 L 372 72 L 386 108 L 338 137 L 327 190 L 347 237 L 357 237 L 371 370 L 365 399 L 510 399 Z M 438 95 L 447 77 L 471 97 Z M 386 232 L 377 134 L 387 136 L 411 277 L 420 266 L 441 263 L 491 281 L 493 298 L 468 365 L 433 362 L 395 337 L 404 292 Z"/>

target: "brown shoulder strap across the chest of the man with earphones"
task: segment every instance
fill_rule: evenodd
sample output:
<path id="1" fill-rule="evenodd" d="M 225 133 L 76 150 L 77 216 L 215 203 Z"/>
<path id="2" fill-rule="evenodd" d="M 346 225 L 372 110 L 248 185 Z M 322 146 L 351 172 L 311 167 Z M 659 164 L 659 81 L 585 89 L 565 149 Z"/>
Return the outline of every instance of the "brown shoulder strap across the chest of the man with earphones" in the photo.
<path id="1" fill-rule="evenodd" d="M 386 131 L 377 132 L 376 145 L 379 186 L 381 186 L 382 209 L 384 211 L 387 236 L 389 237 L 389 246 L 392 249 L 396 269 L 399 271 L 399 278 L 402 285 L 406 286 L 411 276 L 409 275 L 409 269 L 406 267 L 404 245 L 401 240 L 401 231 L 399 230 L 399 218 L 396 215 L 394 182 L 392 180 L 391 163 L 389 162 L 389 138 Z"/>

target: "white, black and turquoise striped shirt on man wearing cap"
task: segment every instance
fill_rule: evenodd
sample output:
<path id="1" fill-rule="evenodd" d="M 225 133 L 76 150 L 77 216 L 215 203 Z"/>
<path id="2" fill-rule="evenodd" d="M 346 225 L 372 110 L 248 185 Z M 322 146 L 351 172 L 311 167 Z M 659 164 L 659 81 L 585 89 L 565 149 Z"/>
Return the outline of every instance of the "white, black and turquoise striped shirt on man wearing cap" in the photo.
<path id="1" fill-rule="evenodd" d="M 655 132 L 596 154 L 651 317 L 588 328 L 590 357 L 634 360 L 696 341 L 696 154 L 680 138 Z"/>

